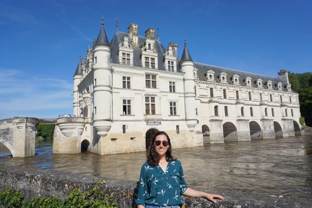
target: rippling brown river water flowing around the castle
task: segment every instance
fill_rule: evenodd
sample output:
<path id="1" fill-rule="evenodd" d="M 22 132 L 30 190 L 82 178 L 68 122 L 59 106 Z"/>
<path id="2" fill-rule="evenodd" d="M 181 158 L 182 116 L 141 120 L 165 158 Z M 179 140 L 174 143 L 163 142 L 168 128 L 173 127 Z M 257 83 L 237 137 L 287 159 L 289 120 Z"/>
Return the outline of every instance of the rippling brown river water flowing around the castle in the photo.
<path id="1" fill-rule="evenodd" d="M 139 180 L 147 152 L 117 155 L 52 154 L 52 140 L 39 141 L 35 156 L 13 158 L 0 148 L 0 162 L 84 175 Z M 312 196 L 312 136 L 226 141 L 173 149 L 188 186 L 285 196 Z"/>

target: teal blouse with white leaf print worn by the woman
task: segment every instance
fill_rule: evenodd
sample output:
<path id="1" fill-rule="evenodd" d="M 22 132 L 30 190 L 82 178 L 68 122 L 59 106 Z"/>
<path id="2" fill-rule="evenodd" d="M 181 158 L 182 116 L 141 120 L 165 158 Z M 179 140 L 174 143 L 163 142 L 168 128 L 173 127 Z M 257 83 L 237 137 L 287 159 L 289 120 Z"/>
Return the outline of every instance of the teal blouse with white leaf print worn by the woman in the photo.
<path id="1" fill-rule="evenodd" d="M 170 160 L 166 172 L 159 165 L 142 165 L 136 204 L 145 206 L 173 206 L 183 204 L 181 195 L 188 188 L 181 162 Z"/>

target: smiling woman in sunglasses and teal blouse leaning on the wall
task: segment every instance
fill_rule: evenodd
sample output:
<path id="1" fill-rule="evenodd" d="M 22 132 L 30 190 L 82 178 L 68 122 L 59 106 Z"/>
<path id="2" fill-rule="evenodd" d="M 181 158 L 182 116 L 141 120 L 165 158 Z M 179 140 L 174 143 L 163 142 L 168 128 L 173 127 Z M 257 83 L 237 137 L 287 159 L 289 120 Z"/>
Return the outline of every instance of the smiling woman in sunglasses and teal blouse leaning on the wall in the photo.
<path id="1" fill-rule="evenodd" d="M 181 163 L 171 155 L 167 133 L 155 133 L 149 149 L 147 162 L 141 168 L 138 199 L 135 200 L 138 208 L 178 208 L 183 204 L 181 195 L 205 197 L 214 203 L 217 202 L 213 198 L 224 199 L 220 195 L 196 191 L 186 185 Z"/>

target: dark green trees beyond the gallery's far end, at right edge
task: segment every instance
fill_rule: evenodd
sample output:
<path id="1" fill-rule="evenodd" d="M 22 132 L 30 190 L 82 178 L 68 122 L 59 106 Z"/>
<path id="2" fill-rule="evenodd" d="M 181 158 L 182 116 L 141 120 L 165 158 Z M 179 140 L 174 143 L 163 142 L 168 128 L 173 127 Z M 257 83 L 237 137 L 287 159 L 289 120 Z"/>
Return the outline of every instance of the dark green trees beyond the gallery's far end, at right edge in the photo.
<path id="1" fill-rule="evenodd" d="M 296 74 L 289 72 L 288 79 L 292 89 L 299 93 L 300 112 L 306 125 L 312 126 L 312 72 Z"/>

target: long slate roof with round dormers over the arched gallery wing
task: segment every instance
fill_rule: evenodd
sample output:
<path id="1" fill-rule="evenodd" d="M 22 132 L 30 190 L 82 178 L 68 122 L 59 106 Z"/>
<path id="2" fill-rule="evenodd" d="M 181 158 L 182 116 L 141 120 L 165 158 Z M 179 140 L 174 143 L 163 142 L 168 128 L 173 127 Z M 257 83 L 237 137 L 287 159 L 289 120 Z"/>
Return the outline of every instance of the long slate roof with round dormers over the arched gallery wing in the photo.
<path id="1" fill-rule="evenodd" d="M 215 79 L 216 83 L 220 83 L 218 76 L 222 72 L 225 72 L 227 74 L 227 82 L 229 84 L 232 84 L 231 76 L 235 75 L 235 74 L 237 74 L 239 76 L 238 80 L 239 80 L 239 83 L 241 86 L 246 86 L 244 81 L 243 81 L 246 77 L 251 77 L 251 86 L 254 88 L 258 88 L 256 86 L 255 80 L 257 80 L 259 78 L 262 80 L 262 87 L 263 87 L 262 89 L 268 89 L 266 87 L 265 83 L 269 80 L 272 81 L 273 90 L 278 90 L 275 86 L 275 83 L 279 83 L 279 82 L 283 83 L 283 81 L 277 77 L 258 75 L 258 74 L 254 74 L 254 73 L 250 73 L 250 72 L 239 71 L 239 70 L 234 70 L 234 69 L 227 69 L 227 68 L 223 68 L 223 67 L 219 67 L 219 66 L 213 66 L 213 65 L 202 64 L 202 63 L 197 63 L 197 62 L 194 62 L 194 67 L 197 69 L 198 79 L 202 80 L 202 81 L 206 81 L 205 74 L 207 73 L 207 71 L 212 70 L 215 72 L 214 73 L 214 79 Z M 259 89 L 261 89 L 261 88 L 259 88 Z M 283 91 L 287 92 L 287 90 L 285 89 L 283 84 L 282 84 L 282 89 L 283 89 Z M 295 91 L 292 90 L 292 92 L 295 92 Z"/>

